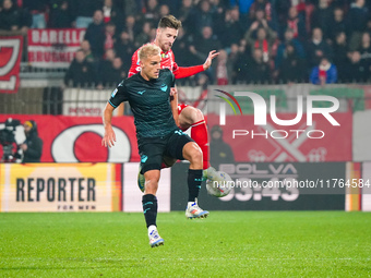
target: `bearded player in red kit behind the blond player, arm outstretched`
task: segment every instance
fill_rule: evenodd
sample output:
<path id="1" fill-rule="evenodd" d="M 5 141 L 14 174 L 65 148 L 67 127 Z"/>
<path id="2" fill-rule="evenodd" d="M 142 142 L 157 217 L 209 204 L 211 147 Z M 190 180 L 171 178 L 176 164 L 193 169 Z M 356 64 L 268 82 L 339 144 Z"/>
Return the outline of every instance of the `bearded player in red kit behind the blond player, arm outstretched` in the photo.
<path id="1" fill-rule="evenodd" d="M 198 74 L 200 72 L 206 71 L 212 65 L 212 60 L 218 56 L 216 50 L 213 50 L 208 53 L 208 57 L 204 64 L 182 68 L 179 67 L 175 61 L 175 56 L 171 50 L 171 46 L 175 43 L 178 36 L 178 29 L 181 27 L 181 22 L 178 21 L 172 15 L 164 16 L 157 27 L 156 38 L 153 44 L 157 45 L 161 49 L 161 69 L 169 69 L 172 71 L 176 78 L 184 78 Z M 132 57 L 131 68 L 129 70 L 129 77 L 139 73 L 141 71 L 141 67 L 137 58 L 139 49 L 134 52 Z M 176 94 L 176 93 L 175 93 Z M 213 167 L 210 167 L 208 162 L 208 138 L 207 138 L 207 128 L 205 123 L 205 119 L 201 110 L 187 105 L 178 105 L 179 118 L 175 119 L 178 126 L 185 131 L 189 128 L 191 130 L 191 137 L 198 143 L 200 148 L 203 152 L 203 169 L 204 177 L 207 179 L 214 179 L 216 177 L 216 171 Z M 175 161 L 166 162 L 166 166 L 171 166 Z M 144 190 L 141 179 L 144 180 L 141 174 L 139 176 L 139 185 L 141 190 Z"/>

